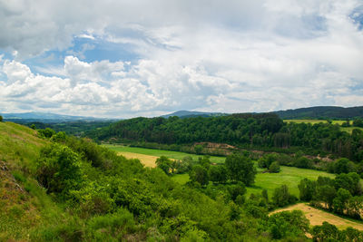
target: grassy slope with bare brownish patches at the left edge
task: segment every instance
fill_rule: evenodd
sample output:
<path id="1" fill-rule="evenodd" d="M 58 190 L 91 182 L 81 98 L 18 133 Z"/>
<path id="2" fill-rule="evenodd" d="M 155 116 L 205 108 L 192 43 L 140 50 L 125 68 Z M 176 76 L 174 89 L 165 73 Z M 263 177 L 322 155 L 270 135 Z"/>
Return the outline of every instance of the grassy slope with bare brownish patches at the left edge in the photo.
<path id="1" fill-rule="evenodd" d="M 68 219 L 31 176 L 45 143 L 36 131 L 0 122 L 0 241 L 37 240 L 43 227 Z"/>

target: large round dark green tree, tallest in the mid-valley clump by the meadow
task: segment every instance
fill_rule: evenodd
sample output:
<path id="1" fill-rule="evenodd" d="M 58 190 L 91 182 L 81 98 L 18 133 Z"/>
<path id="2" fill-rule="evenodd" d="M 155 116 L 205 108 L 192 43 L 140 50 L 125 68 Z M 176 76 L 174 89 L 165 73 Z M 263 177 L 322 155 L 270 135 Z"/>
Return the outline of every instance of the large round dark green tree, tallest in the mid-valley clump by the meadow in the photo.
<path id="1" fill-rule="evenodd" d="M 254 183 L 257 171 L 250 158 L 234 153 L 226 158 L 225 166 L 229 172 L 230 179 L 239 180 L 246 184 L 246 186 Z"/>

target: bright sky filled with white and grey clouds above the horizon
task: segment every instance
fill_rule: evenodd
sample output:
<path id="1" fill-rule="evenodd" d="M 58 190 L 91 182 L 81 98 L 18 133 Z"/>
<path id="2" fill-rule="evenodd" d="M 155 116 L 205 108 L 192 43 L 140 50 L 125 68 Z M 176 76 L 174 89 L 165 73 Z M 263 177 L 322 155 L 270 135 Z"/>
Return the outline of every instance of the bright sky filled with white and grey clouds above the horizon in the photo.
<path id="1" fill-rule="evenodd" d="M 0 0 L 0 112 L 363 105 L 362 0 Z"/>

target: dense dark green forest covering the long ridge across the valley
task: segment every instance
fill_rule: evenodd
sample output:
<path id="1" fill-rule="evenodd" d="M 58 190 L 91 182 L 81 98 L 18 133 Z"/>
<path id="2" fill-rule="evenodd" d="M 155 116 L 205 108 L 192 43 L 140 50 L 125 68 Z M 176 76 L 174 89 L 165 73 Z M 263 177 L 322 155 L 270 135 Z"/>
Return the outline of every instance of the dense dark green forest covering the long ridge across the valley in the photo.
<path id="1" fill-rule="evenodd" d="M 363 160 L 363 131 L 351 134 L 331 123 L 284 123 L 276 114 L 233 114 L 222 117 L 135 118 L 87 132 L 94 140 L 147 142 L 170 145 L 177 150 L 194 142 L 228 143 L 243 149 L 311 155 L 335 154 Z"/>

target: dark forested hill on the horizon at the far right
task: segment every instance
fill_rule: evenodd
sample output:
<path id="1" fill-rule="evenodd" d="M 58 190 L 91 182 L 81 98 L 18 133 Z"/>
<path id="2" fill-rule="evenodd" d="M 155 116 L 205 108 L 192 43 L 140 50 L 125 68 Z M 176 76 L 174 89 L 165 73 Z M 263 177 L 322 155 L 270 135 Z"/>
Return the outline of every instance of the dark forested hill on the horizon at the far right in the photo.
<path id="1" fill-rule="evenodd" d="M 301 108 L 287 111 L 272 111 L 279 115 L 283 120 L 297 119 L 352 119 L 363 118 L 363 106 L 360 107 L 335 107 L 319 106 L 310 108 Z"/>

